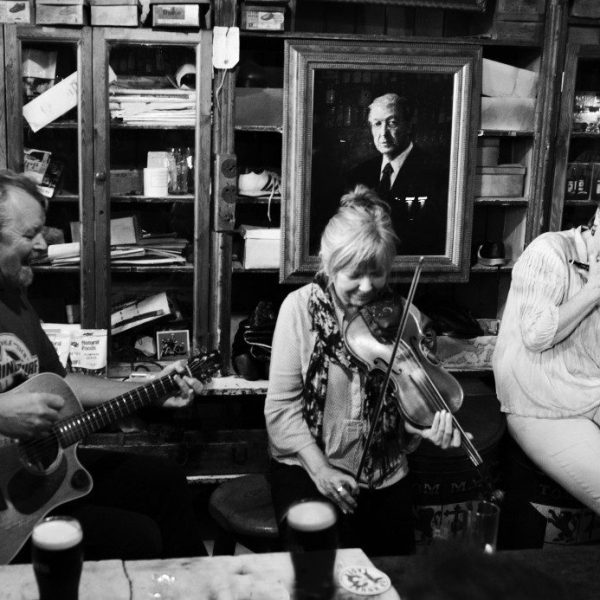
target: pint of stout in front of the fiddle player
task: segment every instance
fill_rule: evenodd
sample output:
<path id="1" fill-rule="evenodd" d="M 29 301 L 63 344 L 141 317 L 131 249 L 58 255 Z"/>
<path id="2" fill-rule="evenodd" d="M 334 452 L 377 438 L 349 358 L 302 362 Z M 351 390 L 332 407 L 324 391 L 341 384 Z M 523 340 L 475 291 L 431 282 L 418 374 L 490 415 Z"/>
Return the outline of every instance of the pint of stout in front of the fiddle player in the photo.
<path id="1" fill-rule="evenodd" d="M 327 600 L 334 596 L 336 524 L 335 508 L 328 502 L 307 500 L 288 510 L 285 527 L 296 577 L 296 600 Z"/>

